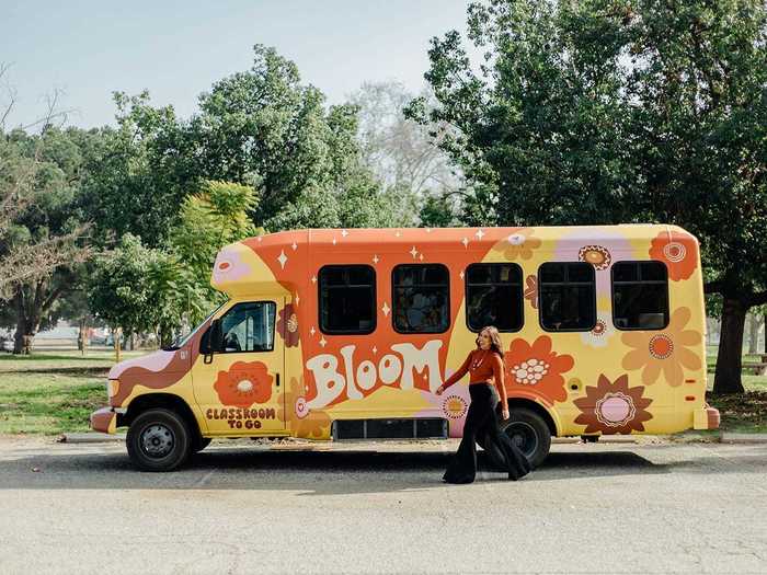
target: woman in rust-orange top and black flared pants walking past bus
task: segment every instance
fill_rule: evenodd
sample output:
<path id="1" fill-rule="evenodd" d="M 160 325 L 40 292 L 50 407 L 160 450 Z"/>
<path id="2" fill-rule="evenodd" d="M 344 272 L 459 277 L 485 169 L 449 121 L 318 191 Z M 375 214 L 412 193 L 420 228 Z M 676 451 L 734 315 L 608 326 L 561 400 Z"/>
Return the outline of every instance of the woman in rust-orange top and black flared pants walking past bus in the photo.
<path id="1" fill-rule="evenodd" d="M 437 388 L 442 395 L 447 388 L 469 372 L 469 395 L 471 404 L 463 424 L 463 438 L 458 451 L 450 460 L 443 481 L 448 483 L 471 483 L 477 475 L 477 437 L 488 441 L 503 453 L 510 480 L 518 480 L 530 471 L 525 455 L 499 428 L 495 407 L 501 402 L 501 413 L 508 419 L 508 402 L 503 382 L 503 353 L 499 331 L 489 325 L 477 336 L 477 349 L 469 353 L 463 365 Z M 496 391 L 497 390 L 497 391 Z M 485 448 L 490 448 L 488 445 Z"/>

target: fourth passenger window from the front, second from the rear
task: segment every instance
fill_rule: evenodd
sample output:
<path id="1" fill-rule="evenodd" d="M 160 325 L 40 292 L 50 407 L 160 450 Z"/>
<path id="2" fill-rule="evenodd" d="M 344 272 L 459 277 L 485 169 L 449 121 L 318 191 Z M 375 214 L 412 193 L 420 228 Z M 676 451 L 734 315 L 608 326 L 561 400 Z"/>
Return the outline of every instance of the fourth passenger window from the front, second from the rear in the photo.
<path id="1" fill-rule="evenodd" d="M 538 268 L 540 324 L 549 332 L 587 332 L 596 325 L 594 266 L 548 262 Z"/>

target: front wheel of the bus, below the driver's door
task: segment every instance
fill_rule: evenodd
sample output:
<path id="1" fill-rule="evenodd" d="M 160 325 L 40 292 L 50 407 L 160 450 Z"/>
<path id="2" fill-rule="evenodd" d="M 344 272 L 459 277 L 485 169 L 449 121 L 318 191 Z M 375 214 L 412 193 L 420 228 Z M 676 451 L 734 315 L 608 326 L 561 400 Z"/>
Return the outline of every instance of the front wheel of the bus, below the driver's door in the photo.
<path id="1" fill-rule="evenodd" d="M 170 410 L 148 410 L 137 416 L 126 437 L 128 455 L 142 471 L 172 471 L 192 451 L 192 434 L 184 418 Z"/>

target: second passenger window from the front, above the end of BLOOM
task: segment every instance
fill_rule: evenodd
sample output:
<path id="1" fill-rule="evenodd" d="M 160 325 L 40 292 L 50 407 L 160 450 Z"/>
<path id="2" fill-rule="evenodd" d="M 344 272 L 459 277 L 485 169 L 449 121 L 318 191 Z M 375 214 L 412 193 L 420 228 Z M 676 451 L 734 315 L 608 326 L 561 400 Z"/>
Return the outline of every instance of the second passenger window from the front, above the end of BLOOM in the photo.
<path id="1" fill-rule="evenodd" d="M 392 272 L 391 314 L 400 333 L 443 333 L 450 325 L 450 285 L 442 264 L 398 265 Z"/>

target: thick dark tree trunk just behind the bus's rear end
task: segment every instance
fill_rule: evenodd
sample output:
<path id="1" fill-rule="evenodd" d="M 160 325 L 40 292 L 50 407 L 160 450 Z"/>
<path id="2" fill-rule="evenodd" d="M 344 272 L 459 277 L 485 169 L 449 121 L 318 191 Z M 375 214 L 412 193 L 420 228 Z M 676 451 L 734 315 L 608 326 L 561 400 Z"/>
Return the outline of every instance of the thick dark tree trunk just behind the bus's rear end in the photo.
<path id="1" fill-rule="evenodd" d="M 714 394 L 745 391 L 741 380 L 741 364 L 746 311 L 746 306 L 740 299 L 724 298 L 717 372 L 713 378 Z"/>

